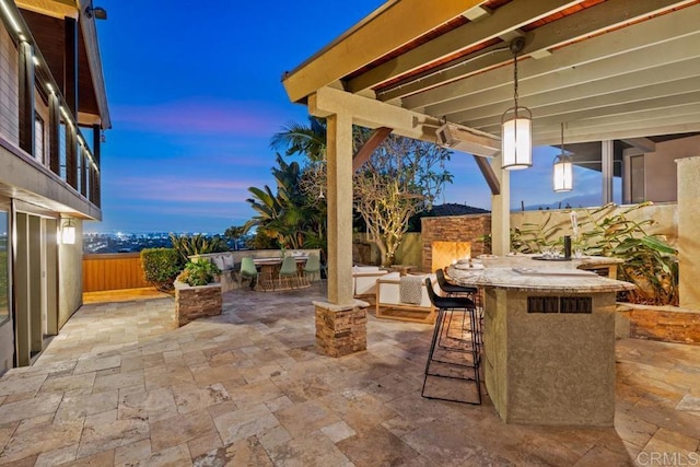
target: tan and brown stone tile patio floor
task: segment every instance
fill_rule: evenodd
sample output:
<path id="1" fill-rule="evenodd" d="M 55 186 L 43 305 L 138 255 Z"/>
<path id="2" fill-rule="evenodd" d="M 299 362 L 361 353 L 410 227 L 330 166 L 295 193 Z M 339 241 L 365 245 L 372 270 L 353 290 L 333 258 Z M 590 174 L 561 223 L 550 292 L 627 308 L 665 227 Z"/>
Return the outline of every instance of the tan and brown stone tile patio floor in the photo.
<path id="1" fill-rule="evenodd" d="M 365 352 L 318 354 L 319 299 L 229 292 L 222 316 L 179 329 L 171 297 L 84 305 L 34 366 L 0 378 L 0 464 L 700 462 L 700 347 L 618 341 L 615 428 L 509 425 L 488 397 L 420 397 L 430 326 L 370 316 Z"/>

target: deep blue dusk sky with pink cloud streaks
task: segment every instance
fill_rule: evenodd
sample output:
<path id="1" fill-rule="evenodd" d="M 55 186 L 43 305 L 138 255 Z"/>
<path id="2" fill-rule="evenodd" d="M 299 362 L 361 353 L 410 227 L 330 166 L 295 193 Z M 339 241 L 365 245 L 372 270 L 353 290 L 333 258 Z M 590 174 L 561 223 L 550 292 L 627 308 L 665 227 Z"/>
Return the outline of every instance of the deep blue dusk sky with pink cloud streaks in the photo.
<path id="1" fill-rule="evenodd" d="M 275 187 L 270 138 L 307 119 L 282 73 L 382 3 L 95 1 L 108 12 L 97 33 L 113 128 L 102 147 L 103 221 L 85 231 L 223 233 L 245 223 L 248 187 Z M 513 208 L 599 197 L 599 174 L 585 170 L 573 194 L 552 192 L 556 153 L 536 148 L 535 166 L 511 176 Z M 455 152 L 447 168 L 454 184 L 438 202 L 490 209 L 470 155 Z"/>

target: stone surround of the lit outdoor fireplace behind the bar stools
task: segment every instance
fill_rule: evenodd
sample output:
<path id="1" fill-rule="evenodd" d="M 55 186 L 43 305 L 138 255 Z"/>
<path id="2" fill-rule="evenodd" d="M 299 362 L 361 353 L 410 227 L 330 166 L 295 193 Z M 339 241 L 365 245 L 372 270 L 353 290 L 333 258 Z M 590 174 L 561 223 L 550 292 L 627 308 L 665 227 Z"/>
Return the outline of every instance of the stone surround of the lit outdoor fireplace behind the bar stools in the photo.
<path id="1" fill-rule="evenodd" d="M 481 235 L 491 233 L 491 214 L 445 215 L 441 218 L 422 218 L 423 265 L 425 272 L 432 272 L 433 242 L 469 242 L 471 256 L 491 253 L 483 243 L 477 242 Z"/>

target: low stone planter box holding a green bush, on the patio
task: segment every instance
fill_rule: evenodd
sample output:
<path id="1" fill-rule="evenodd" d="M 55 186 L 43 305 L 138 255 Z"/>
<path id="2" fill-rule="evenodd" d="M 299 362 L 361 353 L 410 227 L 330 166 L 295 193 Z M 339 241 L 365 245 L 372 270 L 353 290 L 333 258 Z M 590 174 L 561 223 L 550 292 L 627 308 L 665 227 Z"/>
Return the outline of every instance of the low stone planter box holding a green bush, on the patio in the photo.
<path id="1" fill-rule="evenodd" d="M 221 314 L 221 284 L 191 287 L 175 281 L 175 319 L 185 326 L 197 318 Z"/>

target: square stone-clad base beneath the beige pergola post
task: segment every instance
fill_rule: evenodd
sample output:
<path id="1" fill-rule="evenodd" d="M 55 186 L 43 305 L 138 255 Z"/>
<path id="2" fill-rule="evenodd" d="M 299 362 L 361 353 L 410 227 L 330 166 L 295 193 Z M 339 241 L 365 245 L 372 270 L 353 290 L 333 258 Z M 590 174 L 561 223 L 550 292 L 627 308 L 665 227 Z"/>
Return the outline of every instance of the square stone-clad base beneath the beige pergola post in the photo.
<path id="1" fill-rule="evenodd" d="M 316 307 L 316 348 L 328 357 L 343 357 L 368 348 L 369 303 L 350 305 L 313 302 Z"/>

